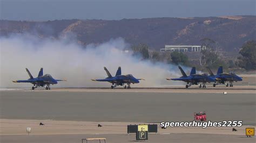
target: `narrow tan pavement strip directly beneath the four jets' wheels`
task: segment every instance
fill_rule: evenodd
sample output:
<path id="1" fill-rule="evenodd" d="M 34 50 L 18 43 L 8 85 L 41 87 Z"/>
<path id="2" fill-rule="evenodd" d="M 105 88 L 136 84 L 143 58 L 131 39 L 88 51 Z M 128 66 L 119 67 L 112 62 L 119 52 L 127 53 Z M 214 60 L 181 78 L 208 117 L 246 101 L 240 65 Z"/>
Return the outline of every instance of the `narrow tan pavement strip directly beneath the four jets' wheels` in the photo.
<path id="1" fill-rule="evenodd" d="M 0 91 L 31 91 L 31 89 L 0 89 Z M 33 91 L 48 91 L 44 88 L 38 88 Z M 239 94 L 255 94 L 256 86 L 253 85 L 236 85 L 235 87 L 225 87 L 223 85 L 217 85 L 217 87 L 199 88 L 197 85 L 193 85 L 188 89 L 185 86 L 172 86 L 172 87 L 148 87 L 148 88 L 137 88 L 123 89 L 117 87 L 114 89 L 110 88 L 51 88 L 50 91 L 65 91 L 65 92 L 166 92 L 166 93 L 239 93 Z"/>

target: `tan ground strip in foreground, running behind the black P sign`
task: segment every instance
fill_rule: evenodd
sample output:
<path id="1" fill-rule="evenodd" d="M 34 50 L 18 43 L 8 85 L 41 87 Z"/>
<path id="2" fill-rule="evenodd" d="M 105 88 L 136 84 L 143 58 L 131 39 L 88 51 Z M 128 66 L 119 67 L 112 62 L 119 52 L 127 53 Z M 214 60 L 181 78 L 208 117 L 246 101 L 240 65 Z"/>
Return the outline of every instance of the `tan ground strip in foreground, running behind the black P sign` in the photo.
<path id="1" fill-rule="evenodd" d="M 39 123 L 44 126 L 39 126 Z M 60 120 L 24 120 L 24 119 L 0 119 L 0 135 L 27 135 L 25 128 L 31 127 L 31 135 L 53 134 L 127 134 L 127 125 L 130 124 L 155 124 L 155 123 L 131 123 L 118 121 L 60 121 Z M 102 127 L 98 127 L 98 124 Z M 158 124 L 159 125 L 159 124 Z M 165 130 L 158 126 L 158 134 L 173 133 L 205 133 L 244 135 L 246 127 L 235 127 L 237 132 L 232 132 L 232 127 L 167 127 Z"/>

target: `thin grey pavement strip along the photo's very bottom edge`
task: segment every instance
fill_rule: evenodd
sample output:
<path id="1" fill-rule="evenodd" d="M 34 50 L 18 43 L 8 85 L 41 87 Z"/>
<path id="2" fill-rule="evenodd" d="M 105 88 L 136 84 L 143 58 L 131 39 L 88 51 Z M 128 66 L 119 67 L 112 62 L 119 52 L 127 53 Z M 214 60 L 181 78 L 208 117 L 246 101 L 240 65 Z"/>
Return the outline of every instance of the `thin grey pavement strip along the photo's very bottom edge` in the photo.
<path id="1" fill-rule="evenodd" d="M 135 134 L 82 134 L 82 135 L 2 135 L 0 142 L 55 142 L 70 143 L 82 142 L 84 138 L 106 138 L 106 142 L 138 142 Z M 86 141 L 85 141 L 86 142 Z M 89 141 L 89 142 L 99 142 Z M 102 141 L 104 142 L 104 141 Z M 144 141 L 143 141 L 144 142 Z M 145 142 L 255 142 L 255 137 L 246 138 L 245 135 L 223 134 L 149 134 L 149 140 Z"/>

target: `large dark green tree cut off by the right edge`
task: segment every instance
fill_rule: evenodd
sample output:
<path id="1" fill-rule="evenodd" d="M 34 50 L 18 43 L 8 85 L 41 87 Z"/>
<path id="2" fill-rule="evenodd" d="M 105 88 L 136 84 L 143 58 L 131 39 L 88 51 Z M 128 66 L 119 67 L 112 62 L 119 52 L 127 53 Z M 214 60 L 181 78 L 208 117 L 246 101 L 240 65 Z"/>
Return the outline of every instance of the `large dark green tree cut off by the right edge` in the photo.
<path id="1" fill-rule="evenodd" d="M 238 66 L 246 70 L 256 69 L 256 42 L 247 41 L 242 45 L 238 57 Z"/>

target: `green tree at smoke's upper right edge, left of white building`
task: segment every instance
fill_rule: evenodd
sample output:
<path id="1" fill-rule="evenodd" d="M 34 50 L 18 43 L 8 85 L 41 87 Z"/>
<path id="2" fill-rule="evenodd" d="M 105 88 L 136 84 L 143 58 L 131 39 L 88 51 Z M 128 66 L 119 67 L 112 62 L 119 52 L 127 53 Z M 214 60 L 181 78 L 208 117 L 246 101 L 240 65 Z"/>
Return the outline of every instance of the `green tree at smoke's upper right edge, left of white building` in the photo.
<path id="1" fill-rule="evenodd" d="M 149 47 L 146 44 L 133 45 L 131 48 L 134 55 L 141 55 L 143 59 L 149 59 Z"/>

